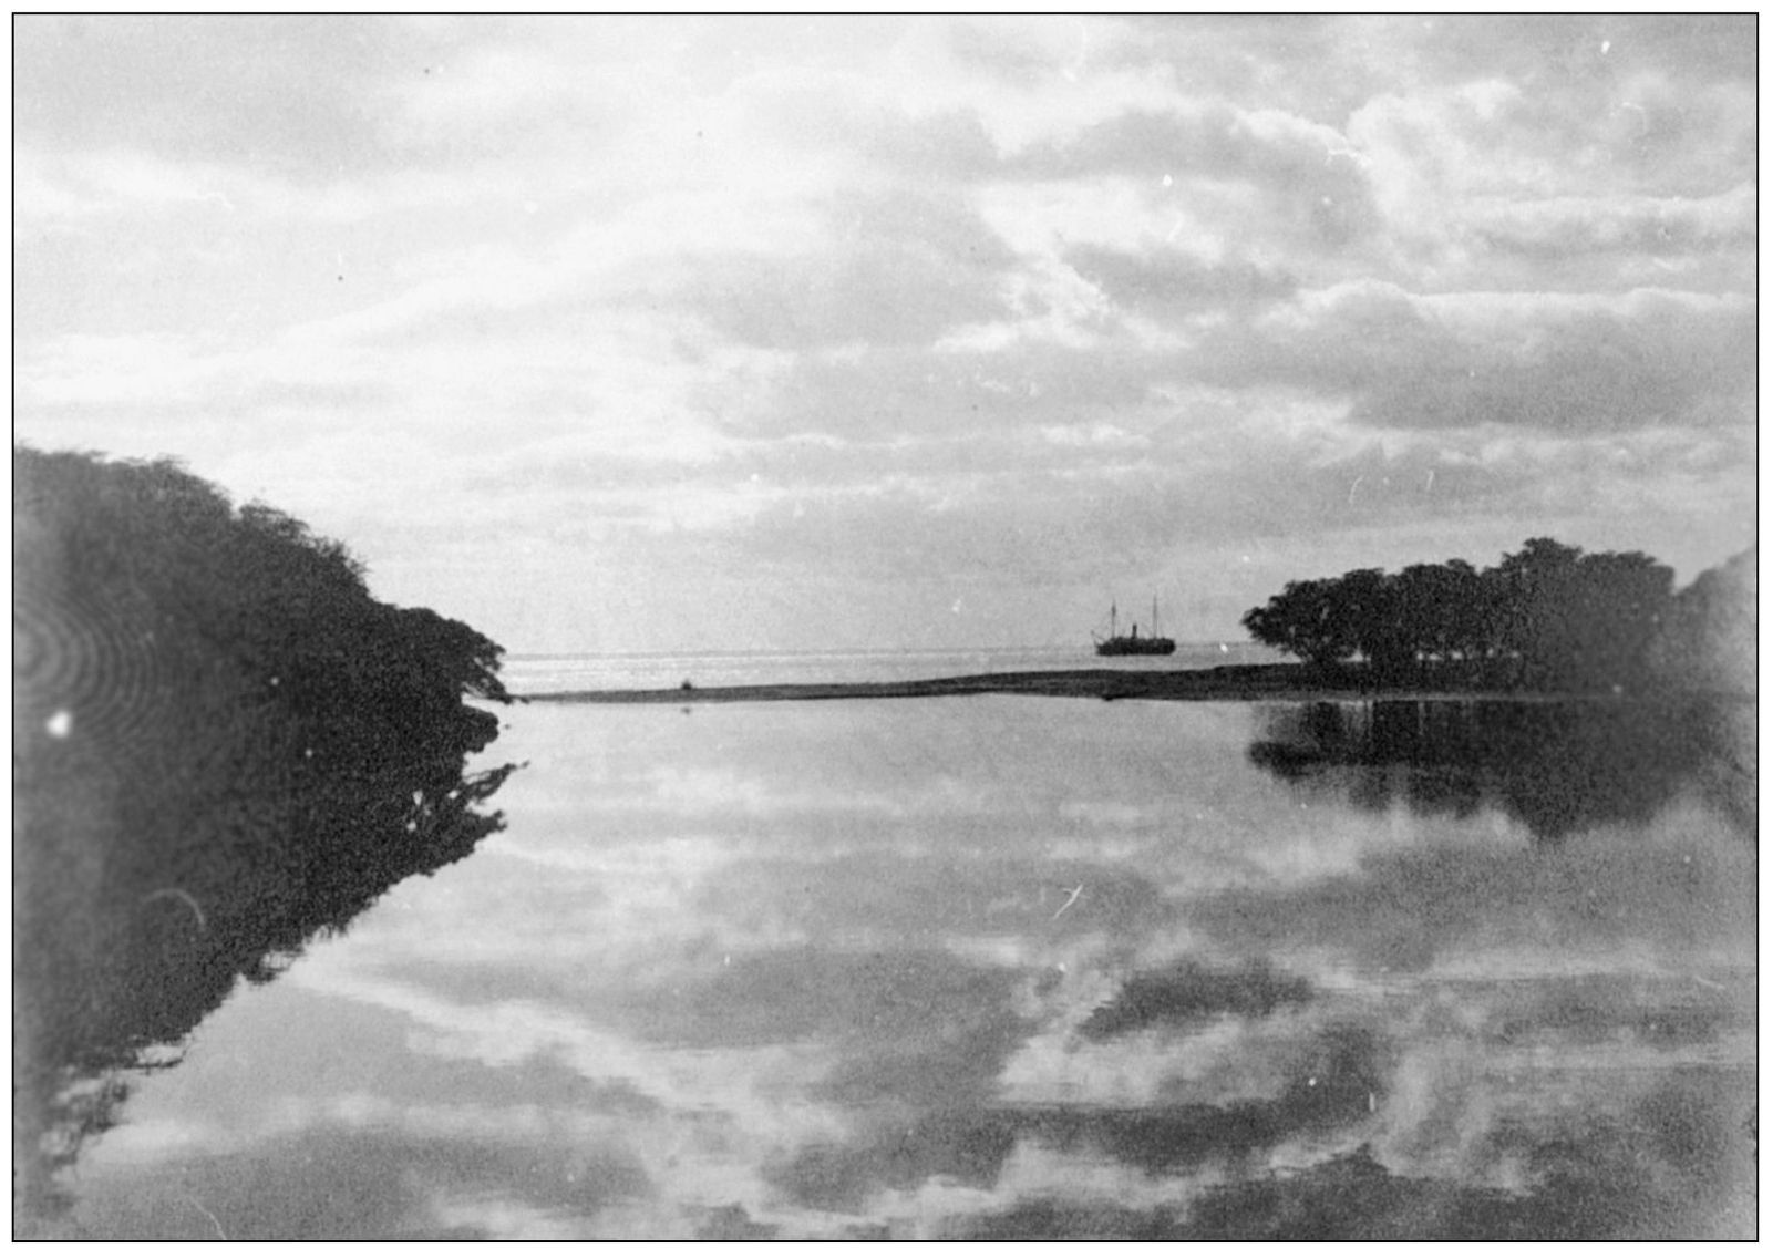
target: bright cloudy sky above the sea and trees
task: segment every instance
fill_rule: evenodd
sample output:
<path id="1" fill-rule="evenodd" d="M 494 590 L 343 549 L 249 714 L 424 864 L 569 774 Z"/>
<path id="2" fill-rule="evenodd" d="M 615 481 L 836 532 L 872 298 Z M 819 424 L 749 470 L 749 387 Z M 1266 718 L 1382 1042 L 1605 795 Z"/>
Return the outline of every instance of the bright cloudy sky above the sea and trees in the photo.
<path id="1" fill-rule="evenodd" d="M 510 653 L 1756 542 L 1756 18 L 16 16 L 14 439 Z"/>

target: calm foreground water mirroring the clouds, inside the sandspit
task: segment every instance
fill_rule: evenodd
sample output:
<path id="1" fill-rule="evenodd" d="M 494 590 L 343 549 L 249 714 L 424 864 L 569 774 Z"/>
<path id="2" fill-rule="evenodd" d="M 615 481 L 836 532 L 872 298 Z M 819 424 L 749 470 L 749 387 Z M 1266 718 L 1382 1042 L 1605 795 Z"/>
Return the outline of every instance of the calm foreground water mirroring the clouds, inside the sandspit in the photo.
<path id="1" fill-rule="evenodd" d="M 1441 715 L 505 708 L 506 829 L 239 986 L 70 1228 L 1747 1232 L 1742 817 Z"/>

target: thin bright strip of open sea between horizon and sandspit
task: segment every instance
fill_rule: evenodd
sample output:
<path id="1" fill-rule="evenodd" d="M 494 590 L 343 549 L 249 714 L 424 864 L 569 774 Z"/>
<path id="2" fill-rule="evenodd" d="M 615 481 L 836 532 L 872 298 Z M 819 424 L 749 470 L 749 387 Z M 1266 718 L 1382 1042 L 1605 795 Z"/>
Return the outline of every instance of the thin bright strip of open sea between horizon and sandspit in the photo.
<path id="1" fill-rule="evenodd" d="M 1088 645 L 936 651 L 686 651 L 629 654 L 508 654 L 501 679 L 519 695 L 590 690 L 701 688 L 731 685 L 831 685 L 920 681 L 986 672 L 1109 670 L 1179 672 L 1225 663 L 1278 663 L 1286 656 L 1255 642 L 1187 642 L 1175 654 L 1100 658 Z"/>

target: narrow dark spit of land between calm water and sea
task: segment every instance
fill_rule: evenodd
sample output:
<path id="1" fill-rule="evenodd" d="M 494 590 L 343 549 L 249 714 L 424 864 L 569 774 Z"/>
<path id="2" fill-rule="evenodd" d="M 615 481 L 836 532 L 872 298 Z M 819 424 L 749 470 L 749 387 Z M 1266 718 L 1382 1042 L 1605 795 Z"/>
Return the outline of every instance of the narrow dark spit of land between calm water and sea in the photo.
<path id="1" fill-rule="evenodd" d="M 1350 674 L 1335 681 L 1309 677 L 1302 663 L 1246 663 L 1182 672 L 1120 672 L 1084 669 L 1073 672 L 986 672 L 940 676 L 922 681 L 842 681 L 824 685 L 722 685 L 701 688 L 588 690 L 531 694 L 526 702 L 792 702 L 843 697 L 959 697 L 966 694 L 1031 694 L 1039 697 L 1157 699 L 1177 702 L 1245 701 L 1332 701 L 1346 697 L 1453 697 L 1453 699 L 1580 699 L 1580 694 L 1533 694 L 1442 685 L 1376 685 Z M 1606 695 L 1608 697 L 1608 695 Z"/>

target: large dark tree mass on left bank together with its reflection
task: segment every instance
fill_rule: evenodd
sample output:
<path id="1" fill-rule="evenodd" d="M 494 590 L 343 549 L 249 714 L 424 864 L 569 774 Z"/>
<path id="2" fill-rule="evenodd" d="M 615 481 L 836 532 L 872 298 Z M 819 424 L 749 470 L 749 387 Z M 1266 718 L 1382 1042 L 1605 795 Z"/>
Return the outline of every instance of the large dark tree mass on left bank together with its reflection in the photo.
<path id="1" fill-rule="evenodd" d="M 14 453 L 14 1209 L 234 988 L 456 861 L 501 651 L 169 464 Z"/>

